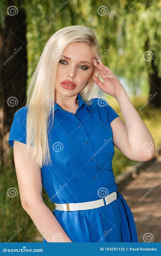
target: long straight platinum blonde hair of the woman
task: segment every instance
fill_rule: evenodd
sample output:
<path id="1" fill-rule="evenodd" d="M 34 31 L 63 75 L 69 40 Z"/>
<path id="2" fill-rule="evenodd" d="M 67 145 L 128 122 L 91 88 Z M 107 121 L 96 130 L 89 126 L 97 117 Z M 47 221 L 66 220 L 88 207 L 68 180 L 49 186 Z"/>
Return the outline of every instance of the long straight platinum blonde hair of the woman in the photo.
<path id="1" fill-rule="evenodd" d="M 57 66 L 67 45 L 77 41 L 87 43 L 94 54 L 94 58 L 98 60 L 101 57 L 100 47 L 93 30 L 84 26 L 62 28 L 48 40 L 30 81 L 26 102 L 28 105 L 27 157 L 29 157 L 30 146 L 32 145 L 36 162 L 40 167 L 51 164 L 47 129 L 51 109 L 54 108 Z M 100 77 L 95 67 L 94 74 Z M 95 94 L 97 85 L 93 84 L 94 81 L 91 79 L 80 92 L 84 101 L 89 100 L 90 94 Z M 52 120 L 54 120 L 54 109 L 52 113 Z"/>

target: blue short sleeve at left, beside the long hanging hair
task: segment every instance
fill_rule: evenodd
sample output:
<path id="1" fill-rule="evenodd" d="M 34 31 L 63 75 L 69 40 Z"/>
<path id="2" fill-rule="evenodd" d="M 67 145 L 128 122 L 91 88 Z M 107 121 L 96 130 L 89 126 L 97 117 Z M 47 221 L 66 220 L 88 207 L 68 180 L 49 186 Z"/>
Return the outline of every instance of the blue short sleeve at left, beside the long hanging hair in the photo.
<path id="1" fill-rule="evenodd" d="M 26 144 L 26 107 L 19 109 L 13 118 L 8 143 L 13 146 L 14 140 Z"/>

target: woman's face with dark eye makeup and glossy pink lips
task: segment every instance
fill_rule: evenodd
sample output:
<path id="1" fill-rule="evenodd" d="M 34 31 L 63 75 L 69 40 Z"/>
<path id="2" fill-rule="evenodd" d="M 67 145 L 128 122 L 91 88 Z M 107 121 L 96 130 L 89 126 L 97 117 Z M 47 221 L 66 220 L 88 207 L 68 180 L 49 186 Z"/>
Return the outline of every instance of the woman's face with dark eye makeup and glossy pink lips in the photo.
<path id="1" fill-rule="evenodd" d="M 93 79 L 94 58 L 89 46 L 84 42 L 70 43 L 58 63 L 55 90 L 59 95 L 77 95 Z M 72 82 L 72 85 L 65 85 Z"/>

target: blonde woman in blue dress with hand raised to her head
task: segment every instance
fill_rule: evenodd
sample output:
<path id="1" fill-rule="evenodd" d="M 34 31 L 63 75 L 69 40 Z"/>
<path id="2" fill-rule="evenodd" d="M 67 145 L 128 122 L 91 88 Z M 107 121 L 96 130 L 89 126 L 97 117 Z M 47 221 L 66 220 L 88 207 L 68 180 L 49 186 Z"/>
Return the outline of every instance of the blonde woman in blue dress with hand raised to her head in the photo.
<path id="1" fill-rule="evenodd" d="M 60 29 L 47 42 L 15 115 L 8 142 L 22 207 L 44 242 L 138 242 L 132 213 L 117 191 L 114 146 L 129 159 L 150 160 L 150 132 L 117 77 L 101 61 L 93 31 Z M 99 80 L 103 77 L 104 83 Z M 118 100 L 125 121 L 102 98 Z M 53 213 L 42 200 L 42 185 Z"/>

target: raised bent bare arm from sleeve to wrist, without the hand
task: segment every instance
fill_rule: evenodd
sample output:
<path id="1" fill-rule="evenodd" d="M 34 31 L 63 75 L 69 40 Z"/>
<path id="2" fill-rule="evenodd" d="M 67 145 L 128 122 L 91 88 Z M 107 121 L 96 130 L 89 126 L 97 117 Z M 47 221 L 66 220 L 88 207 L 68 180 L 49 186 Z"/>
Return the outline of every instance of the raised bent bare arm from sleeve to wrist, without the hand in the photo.
<path id="1" fill-rule="evenodd" d="M 113 141 L 125 156 L 135 161 L 147 161 L 155 156 L 155 143 L 151 133 L 125 92 L 117 98 L 124 122 L 120 117 L 111 123 Z"/>

